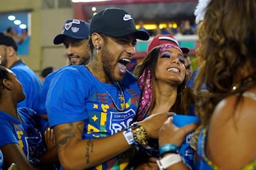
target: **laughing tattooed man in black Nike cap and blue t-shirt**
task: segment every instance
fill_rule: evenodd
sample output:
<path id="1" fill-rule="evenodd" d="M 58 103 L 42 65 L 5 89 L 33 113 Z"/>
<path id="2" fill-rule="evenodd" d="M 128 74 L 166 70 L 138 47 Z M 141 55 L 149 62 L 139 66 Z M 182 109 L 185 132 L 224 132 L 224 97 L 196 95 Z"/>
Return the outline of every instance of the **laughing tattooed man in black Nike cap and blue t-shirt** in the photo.
<path id="1" fill-rule="evenodd" d="M 132 123 L 140 90 L 127 70 L 136 39 L 148 33 L 135 28 L 131 14 L 106 8 L 90 24 L 92 59 L 87 67 L 67 67 L 54 78 L 46 107 L 63 169 L 132 169 L 132 145 L 158 137 L 169 117 L 154 114 Z"/>

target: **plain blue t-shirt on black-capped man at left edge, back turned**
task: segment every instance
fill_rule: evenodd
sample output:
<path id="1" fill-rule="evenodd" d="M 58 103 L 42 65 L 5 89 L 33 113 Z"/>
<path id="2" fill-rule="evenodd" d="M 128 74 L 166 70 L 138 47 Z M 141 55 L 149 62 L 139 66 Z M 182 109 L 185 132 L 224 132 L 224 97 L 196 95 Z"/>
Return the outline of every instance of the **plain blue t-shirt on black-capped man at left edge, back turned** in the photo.
<path id="1" fill-rule="evenodd" d="M 28 107 L 38 112 L 40 91 L 43 85 L 41 79 L 39 79 L 36 73 L 21 60 L 18 60 L 18 62 L 11 67 L 11 71 L 16 74 L 18 81 L 22 84 L 23 92 L 26 95 L 26 98 L 19 102 L 17 107 Z"/>

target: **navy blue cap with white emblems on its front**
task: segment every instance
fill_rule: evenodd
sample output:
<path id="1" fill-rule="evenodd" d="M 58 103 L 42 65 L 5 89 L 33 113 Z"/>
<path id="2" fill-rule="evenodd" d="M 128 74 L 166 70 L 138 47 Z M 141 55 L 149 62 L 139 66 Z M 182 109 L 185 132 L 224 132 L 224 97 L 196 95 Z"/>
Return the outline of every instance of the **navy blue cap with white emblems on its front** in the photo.
<path id="1" fill-rule="evenodd" d="M 63 26 L 63 32 L 55 36 L 53 43 L 55 45 L 61 44 L 64 42 L 65 37 L 86 39 L 89 37 L 89 33 L 90 23 L 78 19 L 68 20 Z"/>

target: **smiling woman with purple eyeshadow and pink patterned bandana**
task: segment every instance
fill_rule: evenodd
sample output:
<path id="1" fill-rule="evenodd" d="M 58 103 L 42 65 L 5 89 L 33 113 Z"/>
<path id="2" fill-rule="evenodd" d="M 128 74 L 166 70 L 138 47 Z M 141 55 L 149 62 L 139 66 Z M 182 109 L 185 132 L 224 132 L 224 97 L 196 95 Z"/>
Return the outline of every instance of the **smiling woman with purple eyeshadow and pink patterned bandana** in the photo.
<path id="1" fill-rule="evenodd" d="M 139 88 L 142 96 L 139 102 L 136 120 L 144 120 L 156 113 L 172 112 L 178 115 L 193 115 L 189 106 L 193 103 L 190 89 L 186 87 L 186 67 L 183 50 L 175 43 L 161 44 L 159 42 L 146 55 L 139 67 Z M 190 137 L 188 136 L 189 140 Z M 141 145 L 136 155 L 136 169 L 148 167 L 152 169 L 159 158 L 158 140 L 149 139 L 148 145 Z M 193 149 L 184 143 L 179 150 L 186 164 L 192 166 Z M 186 146 L 186 147 L 185 147 Z M 161 153 L 161 152 L 160 152 Z M 189 153 L 189 154 L 187 154 Z"/>

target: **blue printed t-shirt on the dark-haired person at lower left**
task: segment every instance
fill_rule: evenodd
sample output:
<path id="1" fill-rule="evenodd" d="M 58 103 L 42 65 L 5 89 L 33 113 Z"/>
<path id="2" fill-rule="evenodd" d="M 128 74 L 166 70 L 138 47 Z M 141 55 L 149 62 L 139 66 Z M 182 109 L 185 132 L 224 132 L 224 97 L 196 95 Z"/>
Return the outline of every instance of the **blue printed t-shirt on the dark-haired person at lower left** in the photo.
<path id="1" fill-rule="evenodd" d="M 0 111 L 0 147 L 17 143 L 28 161 L 38 164 L 38 157 L 46 152 L 43 132 L 48 122 L 30 108 L 18 108 L 18 115 L 23 123 L 12 115 Z"/>

